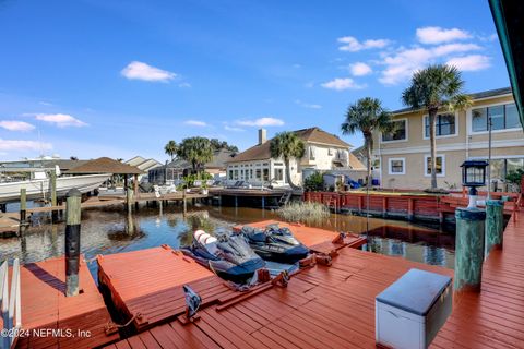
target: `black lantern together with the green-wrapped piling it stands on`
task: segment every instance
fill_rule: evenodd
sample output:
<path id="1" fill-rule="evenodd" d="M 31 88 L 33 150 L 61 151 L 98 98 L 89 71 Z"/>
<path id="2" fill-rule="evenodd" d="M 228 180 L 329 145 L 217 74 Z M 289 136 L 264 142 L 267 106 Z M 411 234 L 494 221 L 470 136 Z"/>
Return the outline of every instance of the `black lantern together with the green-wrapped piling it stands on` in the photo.
<path id="1" fill-rule="evenodd" d="M 456 291 L 480 291 L 483 276 L 486 212 L 477 207 L 477 186 L 486 185 L 486 161 L 464 161 L 462 184 L 469 186 L 469 204 L 456 208 L 455 277 Z"/>

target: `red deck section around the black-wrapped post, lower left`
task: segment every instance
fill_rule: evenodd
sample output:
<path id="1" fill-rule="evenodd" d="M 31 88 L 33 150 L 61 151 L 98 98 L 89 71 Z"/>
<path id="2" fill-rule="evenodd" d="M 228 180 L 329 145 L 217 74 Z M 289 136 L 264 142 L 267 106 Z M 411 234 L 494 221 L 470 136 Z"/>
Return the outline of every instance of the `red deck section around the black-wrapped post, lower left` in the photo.
<path id="1" fill-rule="evenodd" d="M 107 336 L 110 321 L 102 294 L 84 262 L 80 265 L 80 288 L 76 297 L 66 297 L 66 262 L 63 257 L 21 266 L 22 327 L 24 329 L 71 329 L 91 333 L 88 338 L 31 335 L 20 338 L 17 348 L 92 348 L 118 340 Z"/>

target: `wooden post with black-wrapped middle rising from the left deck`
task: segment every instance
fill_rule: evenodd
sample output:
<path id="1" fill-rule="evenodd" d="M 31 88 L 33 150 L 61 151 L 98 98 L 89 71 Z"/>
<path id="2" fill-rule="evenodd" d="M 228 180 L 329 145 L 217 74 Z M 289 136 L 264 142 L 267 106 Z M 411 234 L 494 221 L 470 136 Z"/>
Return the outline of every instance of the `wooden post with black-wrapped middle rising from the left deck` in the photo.
<path id="1" fill-rule="evenodd" d="M 79 294 L 81 198 L 78 189 L 71 189 L 67 196 L 66 297 Z"/>

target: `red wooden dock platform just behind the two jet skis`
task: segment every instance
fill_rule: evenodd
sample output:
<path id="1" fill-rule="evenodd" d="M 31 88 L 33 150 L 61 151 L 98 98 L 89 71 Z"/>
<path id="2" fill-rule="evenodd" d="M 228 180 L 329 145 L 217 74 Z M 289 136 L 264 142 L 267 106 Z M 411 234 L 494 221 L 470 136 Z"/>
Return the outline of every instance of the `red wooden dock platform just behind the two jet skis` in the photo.
<path id="1" fill-rule="evenodd" d="M 264 228 L 267 225 L 272 224 L 278 224 L 282 227 L 289 228 L 289 230 L 291 230 L 293 234 L 295 236 L 295 238 L 297 238 L 298 241 L 300 241 L 314 252 L 330 253 L 333 250 L 336 251 L 346 246 L 358 249 L 366 243 L 366 238 L 357 234 L 347 234 L 346 238 L 344 238 L 343 243 L 333 243 L 333 239 L 337 237 L 336 232 L 319 228 L 306 227 L 298 224 L 287 224 L 278 220 L 263 220 L 249 224 L 248 226 L 255 228 Z M 241 229 L 241 226 L 237 226 L 234 229 L 238 231 Z"/>

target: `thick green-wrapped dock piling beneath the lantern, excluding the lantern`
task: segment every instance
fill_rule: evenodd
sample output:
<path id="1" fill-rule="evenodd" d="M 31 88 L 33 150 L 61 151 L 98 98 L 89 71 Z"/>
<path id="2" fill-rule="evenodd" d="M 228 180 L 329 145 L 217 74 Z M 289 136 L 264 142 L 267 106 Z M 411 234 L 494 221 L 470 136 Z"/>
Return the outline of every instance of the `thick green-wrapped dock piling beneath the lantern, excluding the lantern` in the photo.
<path id="1" fill-rule="evenodd" d="M 486 212 L 457 208 L 455 242 L 455 291 L 480 291 Z"/>

